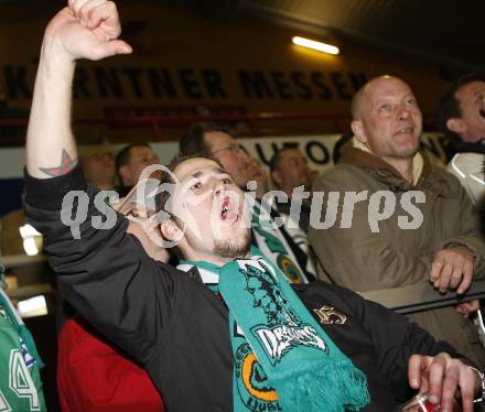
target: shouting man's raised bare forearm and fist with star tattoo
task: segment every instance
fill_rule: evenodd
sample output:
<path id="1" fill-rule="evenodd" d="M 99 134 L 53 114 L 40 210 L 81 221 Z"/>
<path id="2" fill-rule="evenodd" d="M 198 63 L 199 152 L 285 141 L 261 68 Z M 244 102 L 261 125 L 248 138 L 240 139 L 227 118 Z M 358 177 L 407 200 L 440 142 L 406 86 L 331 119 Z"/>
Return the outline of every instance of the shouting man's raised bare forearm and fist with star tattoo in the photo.
<path id="1" fill-rule="evenodd" d="M 117 40 L 121 26 L 112 1 L 69 0 L 45 29 L 26 134 L 26 170 L 37 178 L 67 173 L 77 162 L 71 129 L 75 61 L 131 53 Z"/>

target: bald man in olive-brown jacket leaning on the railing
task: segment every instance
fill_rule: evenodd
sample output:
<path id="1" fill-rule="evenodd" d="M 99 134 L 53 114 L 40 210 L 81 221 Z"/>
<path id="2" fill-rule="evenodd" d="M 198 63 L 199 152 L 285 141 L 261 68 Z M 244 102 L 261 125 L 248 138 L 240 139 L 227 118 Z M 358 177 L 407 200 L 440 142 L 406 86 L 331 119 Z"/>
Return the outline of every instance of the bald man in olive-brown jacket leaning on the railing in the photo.
<path id="1" fill-rule="evenodd" d="M 314 186 L 314 195 L 319 191 L 340 194 L 335 206 L 342 206 L 344 197 L 352 205 L 337 209 L 328 229 L 310 229 L 310 243 L 320 261 L 336 283 L 358 292 L 431 281 L 443 293 L 463 294 L 473 275 L 485 271 L 485 245 L 463 187 L 418 151 L 422 117 L 411 89 L 396 77 L 378 77 L 355 95 L 352 107 L 355 138 L 340 163 Z M 420 215 L 410 217 L 405 199 L 413 193 L 423 196 L 413 198 L 412 207 Z M 382 213 L 384 195 L 396 200 L 392 213 L 373 220 Z M 374 206 L 370 196 L 379 199 Z M 328 207 L 323 207 L 323 215 Z M 344 221 L 345 210 L 352 210 L 352 220 Z M 416 225 L 401 228 L 402 216 Z M 473 323 L 454 307 L 410 317 L 485 366 Z"/>

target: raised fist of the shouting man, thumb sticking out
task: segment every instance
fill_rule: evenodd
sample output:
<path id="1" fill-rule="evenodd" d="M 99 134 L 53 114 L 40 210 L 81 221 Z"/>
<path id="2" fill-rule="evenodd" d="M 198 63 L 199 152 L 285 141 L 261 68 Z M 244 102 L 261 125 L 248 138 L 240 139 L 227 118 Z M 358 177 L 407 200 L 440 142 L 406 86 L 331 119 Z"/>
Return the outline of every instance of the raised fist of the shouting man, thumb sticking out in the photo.
<path id="1" fill-rule="evenodd" d="M 121 33 L 118 11 L 112 1 L 69 0 L 48 23 L 44 52 L 65 61 L 97 61 L 115 54 L 131 53 L 131 46 L 117 40 Z"/>

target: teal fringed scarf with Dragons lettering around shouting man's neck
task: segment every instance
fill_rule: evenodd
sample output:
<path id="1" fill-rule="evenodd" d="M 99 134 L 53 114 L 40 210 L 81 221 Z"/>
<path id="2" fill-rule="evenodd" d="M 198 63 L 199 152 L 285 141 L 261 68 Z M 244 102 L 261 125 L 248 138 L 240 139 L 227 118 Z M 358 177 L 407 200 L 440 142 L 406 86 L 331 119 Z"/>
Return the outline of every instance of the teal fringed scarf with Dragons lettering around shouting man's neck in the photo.
<path id="1" fill-rule="evenodd" d="M 229 310 L 234 411 L 343 412 L 369 402 L 365 375 L 268 259 L 255 256 L 223 267 L 184 261 L 180 269 L 192 265 Z"/>

